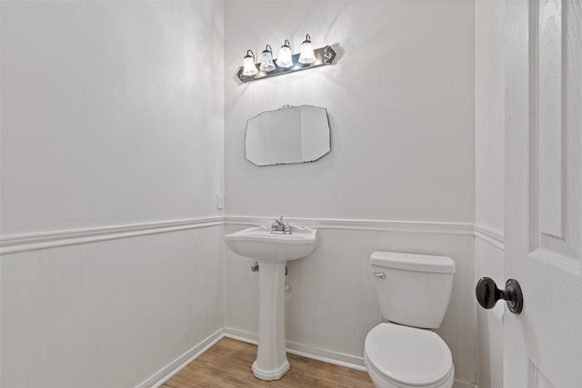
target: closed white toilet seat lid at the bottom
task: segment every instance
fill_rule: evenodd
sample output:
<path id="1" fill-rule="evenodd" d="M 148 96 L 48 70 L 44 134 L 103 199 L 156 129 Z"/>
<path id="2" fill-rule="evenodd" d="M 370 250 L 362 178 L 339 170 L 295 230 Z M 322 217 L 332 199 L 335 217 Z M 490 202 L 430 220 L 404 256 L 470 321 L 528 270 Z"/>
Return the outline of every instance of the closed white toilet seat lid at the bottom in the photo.
<path id="1" fill-rule="evenodd" d="M 394 387 L 451 386 L 451 351 L 442 338 L 426 329 L 380 323 L 366 335 L 366 366 Z"/>

